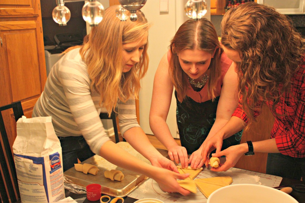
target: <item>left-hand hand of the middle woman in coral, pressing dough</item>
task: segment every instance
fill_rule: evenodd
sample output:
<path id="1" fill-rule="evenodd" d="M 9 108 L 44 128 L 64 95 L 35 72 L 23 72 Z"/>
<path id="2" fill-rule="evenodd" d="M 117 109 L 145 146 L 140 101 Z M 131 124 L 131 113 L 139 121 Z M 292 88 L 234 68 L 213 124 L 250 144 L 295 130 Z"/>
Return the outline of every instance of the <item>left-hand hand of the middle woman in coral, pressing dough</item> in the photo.
<path id="1" fill-rule="evenodd" d="M 183 168 L 188 167 L 188 153 L 185 147 L 174 146 L 172 148 L 168 148 L 168 156 L 170 160 L 174 161 L 178 164 L 179 160 L 181 162 L 181 166 Z"/>

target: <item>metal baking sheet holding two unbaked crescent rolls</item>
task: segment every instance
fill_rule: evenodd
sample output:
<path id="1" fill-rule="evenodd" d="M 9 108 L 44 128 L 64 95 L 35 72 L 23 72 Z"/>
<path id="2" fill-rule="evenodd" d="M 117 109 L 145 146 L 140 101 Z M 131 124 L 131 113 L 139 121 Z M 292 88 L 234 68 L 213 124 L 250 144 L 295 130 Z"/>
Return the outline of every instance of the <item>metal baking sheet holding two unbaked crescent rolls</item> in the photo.
<path id="1" fill-rule="evenodd" d="M 136 158 L 151 164 L 148 159 L 138 153 L 127 142 L 118 142 L 117 145 Z M 88 163 L 97 166 L 99 168 L 98 174 L 96 176 L 92 174 L 84 174 L 82 172 L 76 171 L 73 167 L 65 171 L 64 176 L 66 176 L 66 178 L 71 180 L 74 184 L 80 185 L 84 188 L 91 183 L 100 184 L 102 186 L 102 194 L 107 194 L 110 196 L 125 197 L 148 179 L 147 176 L 113 165 L 99 155 L 94 155 L 93 157 L 88 158 L 81 163 Z M 123 181 L 112 181 L 108 178 L 105 178 L 105 170 L 111 169 L 122 171 L 124 174 Z"/>

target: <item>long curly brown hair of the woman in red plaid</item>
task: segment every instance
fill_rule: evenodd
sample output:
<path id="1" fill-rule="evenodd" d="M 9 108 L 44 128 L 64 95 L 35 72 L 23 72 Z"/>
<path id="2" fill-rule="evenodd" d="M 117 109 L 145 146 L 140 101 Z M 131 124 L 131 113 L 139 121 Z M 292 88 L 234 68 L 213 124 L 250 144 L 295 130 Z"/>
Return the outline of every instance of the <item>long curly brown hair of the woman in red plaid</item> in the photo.
<path id="1" fill-rule="evenodd" d="M 230 9 L 221 28 L 222 45 L 238 51 L 242 59 L 239 97 L 251 124 L 263 103 L 273 102 L 275 112 L 280 98 L 290 92 L 292 76 L 303 63 L 305 41 L 288 16 L 255 2 Z"/>

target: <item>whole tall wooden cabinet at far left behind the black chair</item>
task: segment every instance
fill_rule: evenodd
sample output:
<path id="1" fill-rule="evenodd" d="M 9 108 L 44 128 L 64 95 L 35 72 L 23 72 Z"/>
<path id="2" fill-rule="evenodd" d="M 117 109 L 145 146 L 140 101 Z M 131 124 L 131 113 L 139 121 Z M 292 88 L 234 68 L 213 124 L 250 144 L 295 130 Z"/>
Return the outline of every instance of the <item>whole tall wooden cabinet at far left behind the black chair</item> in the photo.
<path id="1" fill-rule="evenodd" d="M 0 37 L 0 106 L 21 101 L 30 118 L 46 81 L 40 0 L 1 0 Z M 5 113 L 12 146 L 16 122 L 13 111 Z"/>

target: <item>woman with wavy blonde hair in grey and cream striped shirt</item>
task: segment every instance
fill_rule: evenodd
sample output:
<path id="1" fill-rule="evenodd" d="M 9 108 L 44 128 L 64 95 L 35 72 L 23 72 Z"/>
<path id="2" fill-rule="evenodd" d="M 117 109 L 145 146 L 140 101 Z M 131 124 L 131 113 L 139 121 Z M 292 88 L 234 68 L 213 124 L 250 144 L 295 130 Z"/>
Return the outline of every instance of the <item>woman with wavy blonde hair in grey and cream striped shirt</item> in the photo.
<path id="1" fill-rule="evenodd" d="M 152 177 L 164 191 L 187 195 L 190 192 L 176 179 L 188 175 L 175 173 L 174 163 L 152 146 L 135 115 L 140 79 L 148 67 L 149 24 L 140 11 L 137 21 L 121 22 L 115 9 L 106 9 L 104 19 L 91 30 L 84 45 L 67 50 L 53 66 L 33 116 L 52 116 L 62 146 L 64 171 L 73 167 L 77 158 L 84 161 L 97 154 L 117 166 Z M 131 156 L 106 135 L 100 109 L 110 114 L 116 107 L 122 135 L 153 166 Z"/>

